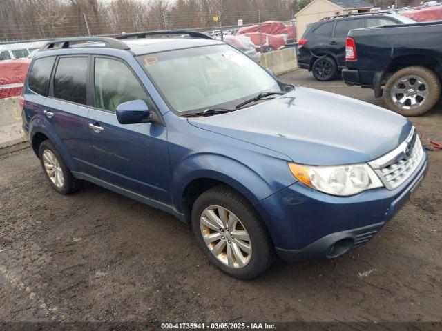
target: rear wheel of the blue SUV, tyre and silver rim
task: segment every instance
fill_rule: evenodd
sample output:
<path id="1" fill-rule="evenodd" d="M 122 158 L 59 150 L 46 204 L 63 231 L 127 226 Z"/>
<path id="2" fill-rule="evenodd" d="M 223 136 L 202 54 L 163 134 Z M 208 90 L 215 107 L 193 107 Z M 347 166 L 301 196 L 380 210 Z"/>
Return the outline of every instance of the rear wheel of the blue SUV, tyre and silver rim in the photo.
<path id="1" fill-rule="evenodd" d="M 81 188 L 82 181 L 75 179 L 57 149 L 48 140 L 39 148 L 41 167 L 48 177 L 50 185 L 60 194 L 70 194 Z"/>

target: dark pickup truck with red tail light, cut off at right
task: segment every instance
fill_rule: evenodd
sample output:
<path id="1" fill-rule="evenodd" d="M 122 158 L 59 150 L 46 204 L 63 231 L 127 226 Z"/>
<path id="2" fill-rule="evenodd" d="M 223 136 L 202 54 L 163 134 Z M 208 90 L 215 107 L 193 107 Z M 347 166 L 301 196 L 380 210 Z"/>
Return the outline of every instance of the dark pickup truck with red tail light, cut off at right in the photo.
<path id="1" fill-rule="evenodd" d="M 394 112 L 421 115 L 441 95 L 442 21 L 351 30 L 345 60 L 345 83 L 372 88 Z"/>

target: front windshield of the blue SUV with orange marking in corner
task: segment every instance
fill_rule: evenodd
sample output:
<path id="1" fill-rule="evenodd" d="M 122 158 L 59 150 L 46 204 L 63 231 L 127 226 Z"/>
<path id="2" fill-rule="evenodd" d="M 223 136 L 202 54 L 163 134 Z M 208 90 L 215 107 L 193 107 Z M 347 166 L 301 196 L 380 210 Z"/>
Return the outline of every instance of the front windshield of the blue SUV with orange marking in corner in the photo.
<path id="1" fill-rule="evenodd" d="M 172 50 L 137 57 L 173 110 L 182 114 L 234 108 L 280 86 L 253 60 L 227 45 Z"/>

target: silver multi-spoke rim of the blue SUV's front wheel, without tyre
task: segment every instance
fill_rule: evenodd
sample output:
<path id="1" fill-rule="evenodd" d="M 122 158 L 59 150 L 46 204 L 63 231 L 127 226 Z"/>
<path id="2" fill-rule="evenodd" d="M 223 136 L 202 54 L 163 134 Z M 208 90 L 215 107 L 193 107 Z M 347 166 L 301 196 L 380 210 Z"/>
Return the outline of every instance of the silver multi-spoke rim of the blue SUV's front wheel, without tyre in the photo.
<path id="1" fill-rule="evenodd" d="M 244 268 L 252 254 L 249 232 L 233 212 L 220 205 L 206 207 L 200 217 L 202 239 L 224 265 Z"/>

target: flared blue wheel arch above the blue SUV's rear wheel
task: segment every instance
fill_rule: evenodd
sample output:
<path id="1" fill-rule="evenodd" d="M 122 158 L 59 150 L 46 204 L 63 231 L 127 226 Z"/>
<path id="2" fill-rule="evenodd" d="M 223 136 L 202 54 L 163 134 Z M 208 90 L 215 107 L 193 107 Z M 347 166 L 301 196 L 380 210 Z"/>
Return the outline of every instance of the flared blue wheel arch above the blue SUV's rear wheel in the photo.
<path id="1" fill-rule="evenodd" d="M 48 139 L 55 145 L 57 151 L 63 158 L 64 163 L 68 166 L 70 170 L 76 170 L 73 160 L 70 158 L 66 147 L 64 146 L 61 139 L 59 139 L 57 132 L 50 126 L 48 121 L 39 115 L 33 117 L 29 123 L 29 141 L 32 144 L 32 140 L 35 137 L 35 134 L 41 133 L 44 134 Z"/>

